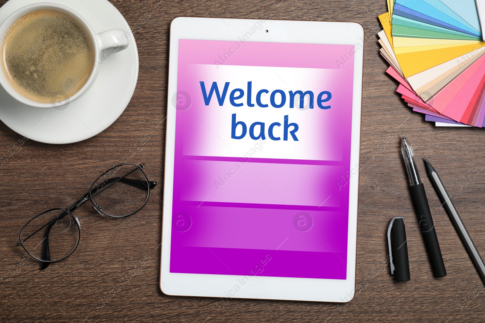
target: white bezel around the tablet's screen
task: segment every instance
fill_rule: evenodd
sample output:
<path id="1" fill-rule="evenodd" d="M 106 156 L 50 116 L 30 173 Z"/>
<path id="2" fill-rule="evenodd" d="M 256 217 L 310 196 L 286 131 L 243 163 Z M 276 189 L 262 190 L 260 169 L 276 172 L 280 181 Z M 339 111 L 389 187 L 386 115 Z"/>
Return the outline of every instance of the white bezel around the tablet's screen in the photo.
<path id="1" fill-rule="evenodd" d="M 350 158 L 350 196 L 347 250 L 347 279 L 317 279 L 255 276 L 237 293 L 230 292 L 242 276 L 170 273 L 172 199 L 175 157 L 176 108 L 172 98 L 177 92 L 178 40 L 238 41 L 254 27 L 264 26 L 252 34 L 250 41 L 355 45 L 352 142 Z M 259 25 L 258 25 L 259 26 Z M 254 28 L 253 28 L 254 29 Z M 266 32 L 266 30 L 268 32 Z M 284 299 L 321 302 L 348 302 L 354 297 L 356 277 L 357 194 L 359 175 L 360 115 L 364 30 L 357 23 L 253 20 L 226 18 L 178 17 L 170 29 L 170 57 L 165 141 L 165 178 L 163 191 L 162 264 L 160 288 L 168 295 L 223 298 Z"/>

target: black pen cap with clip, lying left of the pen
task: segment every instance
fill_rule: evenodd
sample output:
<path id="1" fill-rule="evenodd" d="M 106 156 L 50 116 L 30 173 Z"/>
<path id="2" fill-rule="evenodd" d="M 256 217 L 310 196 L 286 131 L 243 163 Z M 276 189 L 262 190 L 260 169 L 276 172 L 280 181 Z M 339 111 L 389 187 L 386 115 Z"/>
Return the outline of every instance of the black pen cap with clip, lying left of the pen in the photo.
<path id="1" fill-rule="evenodd" d="M 389 223 L 388 245 L 391 274 L 394 275 L 397 281 L 410 280 L 404 217 L 395 217 Z"/>

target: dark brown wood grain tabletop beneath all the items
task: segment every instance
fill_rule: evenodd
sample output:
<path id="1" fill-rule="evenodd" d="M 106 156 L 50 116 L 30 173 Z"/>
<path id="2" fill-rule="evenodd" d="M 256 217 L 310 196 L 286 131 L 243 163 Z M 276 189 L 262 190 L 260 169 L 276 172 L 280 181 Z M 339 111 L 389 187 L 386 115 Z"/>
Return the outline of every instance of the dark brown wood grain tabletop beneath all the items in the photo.
<path id="1" fill-rule="evenodd" d="M 0 5 L 5 1 L 0 0 Z M 26 140 L 0 123 L 0 322 L 484 322 L 485 291 L 421 167 L 448 276 L 432 277 L 399 149 L 404 132 L 453 196 L 485 255 L 485 133 L 436 128 L 406 108 L 379 57 L 377 15 L 385 0 L 112 0 L 134 31 L 140 76 L 121 117 L 94 138 L 69 145 Z M 162 294 L 160 243 L 169 26 L 177 16 L 355 21 L 365 29 L 356 296 L 347 304 L 173 297 Z M 1 108 L 1 103 L 0 103 Z M 18 149 L 17 147 L 20 147 Z M 77 200 L 99 173 L 146 163 L 159 185 L 125 219 L 83 205 L 81 244 L 39 271 L 16 247 L 32 215 Z M 405 216 L 411 281 L 389 275 L 385 233 Z"/>

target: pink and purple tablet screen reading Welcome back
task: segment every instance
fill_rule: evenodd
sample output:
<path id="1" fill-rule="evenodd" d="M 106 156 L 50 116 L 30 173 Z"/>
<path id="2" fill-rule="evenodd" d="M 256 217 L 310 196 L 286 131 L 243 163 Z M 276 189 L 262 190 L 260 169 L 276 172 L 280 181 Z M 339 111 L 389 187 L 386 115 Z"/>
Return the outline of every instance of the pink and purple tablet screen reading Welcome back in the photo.
<path id="1" fill-rule="evenodd" d="M 170 272 L 346 279 L 356 49 L 179 40 Z"/>

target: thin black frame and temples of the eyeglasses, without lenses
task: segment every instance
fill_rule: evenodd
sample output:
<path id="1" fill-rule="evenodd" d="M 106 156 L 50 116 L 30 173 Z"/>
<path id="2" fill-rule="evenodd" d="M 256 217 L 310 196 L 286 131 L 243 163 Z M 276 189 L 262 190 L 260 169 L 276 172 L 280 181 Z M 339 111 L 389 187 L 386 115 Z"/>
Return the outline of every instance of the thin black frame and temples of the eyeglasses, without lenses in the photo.
<path id="1" fill-rule="evenodd" d="M 113 169 L 119 168 L 119 167 L 121 167 L 121 166 L 125 166 L 125 165 L 132 165 L 132 166 L 134 166 L 134 167 L 135 167 L 135 169 L 131 170 L 130 172 L 128 172 L 128 173 L 127 173 L 127 174 L 125 174 L 124 176 L 120 177 L 119 179 L 117 179 L 116 181 L 114 181 L 114 182 L 113 182 L 113 183 L 111 183 L 110 185 L 106 186 L 106 187 L 105 187 L 105 188 L 103 188 L 102 190 L 100 190 L 100 191 L 96 191 L 96 193 L 94 194 L 94 196 L 96 196 L 97 194 L 101 193 L 102 191 L 104 191 L 105 189 L 107 189 L 108 187 L 110 187 L 111 185 L 114 185 L 115 183 L 117 183 L 118 181 L 121 181 L 122 179 L 124 179 L 126 176 L 128 176 L 128 175 L 129 175 L 129 174 L 131 174 L 132 172 L 134 172 L 134 171 L 136 171 L 137 169 L 139 169 L 139 170 L 142 172 L 142 174 L 143 174 L 143 176 L 145 177 L 145 179 L 146 179 L 146 182 L 142 182 L 142 181 L 140 181 L 140 182 L 142 182 L 142 183 L 144 183 L 144 184 L 145 184 L 145 183 L 147 183 L 148 185 L 135 185 L 135 186 L 138 186 L 138 187 L 140 187 L 140 186 L 144 186 L 144 187 L 142 187 L 142 188 L 144 188 L 144 189 L 146 188 L 146 189 L 147 189 L 148 193 L 147 193 L 147 195 L 146 195 L 146 200 L 145 200 L 145 202 L 142 204 L 142 206 L 140 206 L 140 207 L 139 207 L 139 208 L 138 208 L 136 211 L 134 211 L 134 212 L 132 212 L 132 213 L 130 213 L 130 214 L 128 214 L 128 215 L 123 215 L 123 216 L 113 216 L 113 215 L 109 215 L 109 214 L 105 213 L 104 211 L 102 211 L 102 208 L 101 208 L 99 205 L 97 205 L 97 203 L 95 203 L 95 202 L 93 201 L 93 195 L 92 195 L 93 186 L 96 184 L 96 182 L 97 182 L 97 181 L 98 181 L 98 180 L 99 180 L 101 177 L 103 177 L 104 175 L 106 175 L 108 172 L 112 171 Z M 26 252 L 27 252 L 29 255 L 31 255 L 31 256 L 32 256 L 32 258 L 34 258 L 35 260 L 40 261 L 40 262 L 41 262 L 41 267 L 40 267 L 41 269 L 45 269 L 45 268 L 46 268 L 46 267 L 47 267 L 47 266 L 48 266 L 50 263 L 54 263 L 54 262 L 58 262 L 58 261 L 62 261 L 62 260 L 64 260 L 64 259 L 66 259 L 67 257 L 69 257 L 69 256 L 70 256 L 70 255 L 71 255 L 71 254 L 72 254 L 72 253 L 73 253 L 73 252 L 74 252 L 74 251 L 77 249 L 77 247 L 79 246 L 79 243 L 80 243 L 80 241 L 81 241 L 81 223 L 79 222 L 78 217 L 77 217 L 76 215 L 73 215 L 73 214 L 71 213 L 71 211 L 76 210 L 76 209 L 77 209 L 79 206 L 81 206 L 81 204 L 82 204 L 82 203 L 84 203 L 84 202 L 85 202 L 85 201 L 87 201 L 87 200 L 90 200 L 90 201 L 91 201 L 91 203 L 93 204 L 93 206 L 94 206 L 95 210 L 96 210 L 96 211 L 97 211 L 97 213 L 99 213 L 100 215 L 107 215 L 107 216 L 114 217 L 114 218 L 123 218 L 123 217 L 127 217 L 127 216 L 130 216 L 130 215 L 133 215 L 133 214 L 137 213 L 138 211 L 140 211 L 140 210 L 141 210 L 141 209 L 142 209 L 142 208 L 143 208 L 143 207 L 146 205 L 146 202 L 147 202 L 147 201 L 148 201 L 148 199 L 150 198 L 150 189 L 153 189 L 153 188 L 154 188 L 154 187 L 157 185 L 157 182 L 150 182 L 150 181 L 148 181 L 148 178 L 146 177 L 146 174 L 145 174 L 145 172 L 143 171 L 143 168 L 144 168 L 144 167 L 145 167 L 145 163 L 142 163 L 142 164 L 140 164 L 139 166 L 138 166 L 138 165 L 136 165 L 136 164 L 133 164 L 133 163 L 123 163 L 123 164 L 116 165 L 116 166 L 114 166 L 114 167 L 112 167 L 112 168 L 110 168 L 110 169 L 106 170 L 104 173 L 102 173 L 102 174 L 101 174 L 101 175 L 100 175 L 100 176 L 99 176 L 99 177 L 98 177 L 98 178 L 97 178 L 97 179 L 96 179 L 96 180 L 93 182 L 93 184 L 92 184 L 92 185 L 90 186 L 90 188 L 89 188 L 89 191 L 88 191 L 86 194 L 84 194 L 84 196 L 83 196 L 83 197 L 82 197 L 80 200 L 78 200 L 77 202 L 74 202 L 74 203 L 73 203 L 71 206 L 69 206 L 67 209 L 62 209 L 62 208 L 53 208 L 53 209 L 49 209 L 49 210 L 44 211 L 44 212 L 42 212 L 42 213 L 40 213 L 40 214 L 38 214 L 38 215 L 33 216 L 33 217 L 32 217 L 32 218 L 29 220 L 29 221 L 27 221 L 27 223 L 26 223 L 26 224 L 25 224 L 25 225 L 22 227 L 22 229 L 20 229 L 20 232 L 19 232 L 19 234 L 18 234 L 18 240 L 19 240 L 19 242 L 16 244 L 16 246 L 22 246 L 22 247 L 24 248 L 24 250 L 25 250 L 25 251 L 26 251 Z M 126 180 L 129 180 L 129 183 L 130 183 L 131 185 L 134 185 L 134 182 L 138 182 L 138 181 L 139 181 L 139 180 L 130 180 L 130 179 L 126 179 Z M 108 181 L 108 180 L 107 180 L 107 181 Z M 100 186 L 100 185 L 102 185 L 102 184 L 104 184 L 104 182 L 103 182 L 103 183 L 101 183 L 101 184 L 99 184 L 99 185 L 97 185 L 97 187 L 99 187 L 99 186 Z M 96 188 L 97 188 L 97 187 L 96 187 Z M 54 217 L 52 220 L 50 220 L 49 222 L 47 222 L 47 223 L 46 223 L 44 226 L 42 226 L 41 228 L 39 228 L 37 231 L 33 232 L 31 235 L 29 235 L 27 238 L 25 238 L 25 239 L 22 241 L 22 238 L 21 238 L 22 231 L 25 229 L 25 227 L 26 227 L 26 226 L 27 226 L 27 225 L 28 225 L 28 224 L 29 224 L 29 223 L 30 223 L 32 220 L 34 220 L 34 219 L 35 219 L 35 218 L 37 218 L 38 216 L 41 216 L 41 215 L 44 215 L 44 214 L 46 214 L 46 213 L 49 213 L 49 212 L 52 212 L 52 211 L 56 211 L 56 210 L 58 210 L 58 211 L 62 211 L 62 213 L 61 213 L 60 215 L 55 216 L 55 217 Z M 64 213 L 66 213 L 66 214 L 64 214 Z M 59 219 L 64 218 L 66 215 L 69 215 L 69 216 L 71 216 L 71 217 L 73 218 L 74 223 L 76 224 L 76 227 L 77 227 L 77 229 L 78 229 L 78 242 L 77 242 L 76 246 L 74 246 L 74 248 L 72 249 L 72 251 L 71 251 L 71 252 L 69 252 L 69 253 L 68 253 L 68 254 L 67 254 L 67 255 L 66 255 L 64 258 L 61 258 L 61 259 L 59 259 L 59 260 L 55 260 L 55 261 L 45 261 L 45 260 L 41 260 L 41 259 L 38 259 L 37 257 L 35 257 L 34 255 L 32 255 L 32 254 L 29 252 L 29 250 L 27 250 L 27 248 L 24 246 L 24 244 L 23 244 L 23 243 L 24 243 L 24 242 L 25 242 L 27 239 L 29 239 L 30 237 L 32 237 L 32 235 L 34 235 L 35 233 L 37 233 L 38 231 L 42 230 L 44 227 L 46 227 L 46 226 L 48 226 L 48 225 L 49 225 L 50 227 L 48 228 L 48 230 L 47 230 L 47 231 L 46 231 L 46 233 L 45 233 L 45 235 L 47 234 L 47 236 L 48 236 L 48 235 L 49 235 L 49 231 L 50 231 L 50 229 L 52 228 L 52 225 L 53 225 L 54 223 L 56 223 L 56 222 L 57 222 Z M 55 220 L 55 221 L 54 221 L 54 220 Z M 52 223 L 52 224 L 51 224 L 51 223 Z M 44 241 L 44 240 L 43 240 L 43 241 Z M 47 241 L 47 248 L 49 249 L 49 240 L 45 240 L 45 241 Z M 45 243 L 44 243 L 44 245 L 43 245 L 43 248 L 45 248 Z M 49 251 L 48 251 L 48 252 L 49 252 Z M 43 253 L 44 253 L 44 251 L 43 251 Z M 45 266 L 45 267 L 43 267 L 43 266 Z"/>

